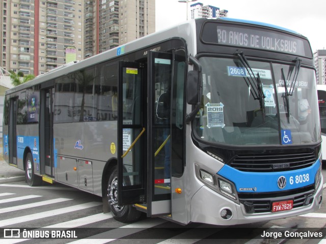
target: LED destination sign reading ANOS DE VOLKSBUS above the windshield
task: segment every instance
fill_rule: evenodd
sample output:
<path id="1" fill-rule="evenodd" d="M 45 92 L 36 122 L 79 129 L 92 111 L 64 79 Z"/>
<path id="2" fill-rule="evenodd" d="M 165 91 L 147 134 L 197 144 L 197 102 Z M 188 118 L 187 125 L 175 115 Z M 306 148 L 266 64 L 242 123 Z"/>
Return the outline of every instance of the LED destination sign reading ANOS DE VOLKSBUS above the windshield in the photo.
<path id="1" fill-rule="evenodd" d="M 311 57 L 307 40 L 252 26 L 208 22 L 203 27 L 202 41 Z"/>

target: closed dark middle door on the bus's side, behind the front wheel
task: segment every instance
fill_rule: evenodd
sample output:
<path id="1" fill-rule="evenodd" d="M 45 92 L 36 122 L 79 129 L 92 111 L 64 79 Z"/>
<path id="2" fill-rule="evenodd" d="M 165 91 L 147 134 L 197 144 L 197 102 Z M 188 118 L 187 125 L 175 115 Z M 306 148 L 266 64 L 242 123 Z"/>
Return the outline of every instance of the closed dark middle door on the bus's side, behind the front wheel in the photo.
<path id="1" fill-rule="evenodd" d="M 45 167 L 41 166 L 41 172 L 49 176 L 54 176 L 53 172 L 53 95 L 54 87 L 41 91 L 41 116 L 40 128 L 40 157 L 41 162 L 45 162 Z M 42 148 L 43 147 L 43 148 Z M 43 160 L 42 160 L 43 159 Z"/>

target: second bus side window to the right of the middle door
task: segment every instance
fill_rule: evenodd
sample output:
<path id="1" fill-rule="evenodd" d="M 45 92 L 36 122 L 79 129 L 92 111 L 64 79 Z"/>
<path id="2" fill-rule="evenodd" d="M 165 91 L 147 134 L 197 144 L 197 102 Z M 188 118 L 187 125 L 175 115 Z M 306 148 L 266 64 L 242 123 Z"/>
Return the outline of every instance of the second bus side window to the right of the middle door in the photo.
<path id="1" fill-rule="evenodd" d="M 95 121 L 97 96 L 95 90 L 95 67 L 75 72 L 74 122 Z"/>

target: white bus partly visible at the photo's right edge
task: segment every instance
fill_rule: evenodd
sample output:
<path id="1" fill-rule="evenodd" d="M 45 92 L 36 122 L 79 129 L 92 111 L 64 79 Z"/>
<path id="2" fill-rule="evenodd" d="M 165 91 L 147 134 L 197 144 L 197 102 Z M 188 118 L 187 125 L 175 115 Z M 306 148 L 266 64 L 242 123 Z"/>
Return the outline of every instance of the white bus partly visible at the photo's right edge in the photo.
<path id="1" fill-rule="evenodd" d="M 317 85 L 317 96 L 320 116 L 322 161 L 326 161 L 326 85 Z"/>

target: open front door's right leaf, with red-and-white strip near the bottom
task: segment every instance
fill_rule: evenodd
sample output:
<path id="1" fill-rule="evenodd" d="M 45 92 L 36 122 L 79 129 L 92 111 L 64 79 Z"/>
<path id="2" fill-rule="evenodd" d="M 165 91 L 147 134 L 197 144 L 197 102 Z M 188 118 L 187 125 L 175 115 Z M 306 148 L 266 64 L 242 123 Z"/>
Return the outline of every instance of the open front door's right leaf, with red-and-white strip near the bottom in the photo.
<path id="1" fill-rule="evenodd" d="M 171 213 L 172 53 L 149 52 L 147 216 Z"/>

